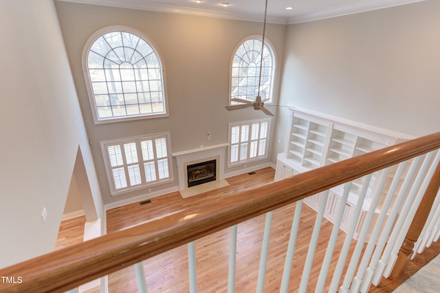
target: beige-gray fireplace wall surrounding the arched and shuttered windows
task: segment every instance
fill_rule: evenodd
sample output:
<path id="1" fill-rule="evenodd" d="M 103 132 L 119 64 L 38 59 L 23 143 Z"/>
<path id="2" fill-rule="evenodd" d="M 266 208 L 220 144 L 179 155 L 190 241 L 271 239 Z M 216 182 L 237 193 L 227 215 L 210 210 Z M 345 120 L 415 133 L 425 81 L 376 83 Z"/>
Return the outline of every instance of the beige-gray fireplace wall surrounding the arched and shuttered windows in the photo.
<path id="1" fill-rule="evenodd" d="M 228 123 L 265 117 L 261 111 L 250 109 L 228 111 L 229 67 L 234 49 L 241 41 L 252 35 L 261 35 L 263 23 L 232 21 L 166 14 L 145 10 L 109 8 L 98 5 L 56 1 L 56 10 L 67 47 L 72 73 L 89 139 L 93 141 L 92 152 L 104 202 L 109 204 L 138 196 L 148 196 L 148 189 L 133 191 L 121 196 L 111 196 L 104 170 L 100 141 L 142 134 L 170 132 L 173 152 L 215 145 L 228 141 Z M 95 125 L 91 114 L 85 78 L 81 69 L 81 55 L 88 38 L 102 27 L 126 25 L 143 32 L 156 45 L 164 60 L 168 86 L 170 117 L 143 119 Z M 285 25 L 267 25 L 270 40 L 278 63 L 284 48 Z M 281 66 L 278 66 L 278 77 Z M 278 78 L 278 80 L 280 80 Z M 278 85 L 275 99 L 278 98 Z M 274 128 L 274 119 L 272 121 Z M 212 133 L 211 141 L 207 133 Z M 248 164 L 247 167 L 269 163 L 270 159 Z M 225 170 L 238 172 L 243 166 Z M 175 182 L 152 187 L 177 188 Z"/>

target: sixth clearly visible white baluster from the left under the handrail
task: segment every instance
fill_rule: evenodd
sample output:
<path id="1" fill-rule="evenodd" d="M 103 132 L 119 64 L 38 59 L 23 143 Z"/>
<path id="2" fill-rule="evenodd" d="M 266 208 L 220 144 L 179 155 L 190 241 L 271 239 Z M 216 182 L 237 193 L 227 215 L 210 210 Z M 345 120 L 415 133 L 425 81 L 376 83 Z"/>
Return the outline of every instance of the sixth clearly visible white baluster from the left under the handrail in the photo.
<path id="1" fill-rule="evenodd" d="M 329 191 L 325 191 L 322 194 L 321 202 L 319 204 L 318 213 L 316 215 L 314 231 L 311 233 L 311 239 L 309 244 L 309 250 L 307 251 L 307 257 L 305 259 L 303 276 L 301 277 L 300 288 L 298 292 L 306 292 L 307 284 L 309 283 L 311 265 L 314 262 L 314 256 L 316 251 L 316 245 L 318 244 L 318 237 L 321 231 L 322 218 L 324 217 L 325 204 L 327 203 L 327 196 Z"/>

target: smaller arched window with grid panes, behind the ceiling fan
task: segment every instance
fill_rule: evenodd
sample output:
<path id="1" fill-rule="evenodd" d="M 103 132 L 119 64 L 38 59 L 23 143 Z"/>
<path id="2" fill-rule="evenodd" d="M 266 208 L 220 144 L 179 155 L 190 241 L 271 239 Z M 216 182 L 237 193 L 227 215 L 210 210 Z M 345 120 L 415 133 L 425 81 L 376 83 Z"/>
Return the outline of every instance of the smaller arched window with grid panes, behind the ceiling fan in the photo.
<path id="1" fill-rule="evenodd" d="M 260 38 L 251 38 L 245 40 L 236 49 L 232 59 L 230 99 L 247 99 L 251 102 L 255 100 L 259 89 L 262 45 L 263 42 Z M 261 68 L 260 96 L 261 99 L 267 99 L 267 103 L 272 102 L 274 70 L 274 51 L 265 42 L 263 66 Z M 230 104 L 238 103 L 230 102 Z"/>

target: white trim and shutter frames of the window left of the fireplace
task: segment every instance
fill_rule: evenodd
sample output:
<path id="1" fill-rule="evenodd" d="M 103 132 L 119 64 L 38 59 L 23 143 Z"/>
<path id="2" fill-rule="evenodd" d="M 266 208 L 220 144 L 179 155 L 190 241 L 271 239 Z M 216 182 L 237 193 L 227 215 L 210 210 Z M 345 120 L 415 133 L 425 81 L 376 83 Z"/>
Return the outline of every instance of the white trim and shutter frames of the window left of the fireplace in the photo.
<path id="1" fill-rule="evenodd" d="M 168 178 L 164 178 L 164 179 L 159 179 L 157 178 L 157 180 L 152 181 L 152 182 L 142 182 L 140 185 L 135 185 L 133 187 L 124 187 L 122 189 L 116 189 L 115 188 L 115 183 L 113 180 L 113 173 L 112 173 L 112 169 L 111 169 L 111 165 L 110 165 L 110 159 L 109 159 L 109 154 L 107 152 L 107 145 L 122 145 L 124 143 L 131 143 L 131 142 L 137 142 L 137 141 L 145 141 L 145 140 L 155 140 L 155 139 L 160 139 L 164 137 L 166 139 L 166 159 L 168 160 Z M 161 185 L 164 183 L 170 183 L 172 181 L 174 181 L 174 174 L 173 174 L 173 155 L 171 152 L 171 141 L 170 141 L 170 132 L 161 132 L 161 133 L 155 133 L 155 134 L 146 134 L 146 135 L 140 135 L 137 137 L 126 137 L 123 139 L 111 139 L 111 140 L 107 140 L 107 141 L 100 141 L 100 145 L 101 145 L 101 153 L 102 153 L 102 159 L 104 160 L 104 167 L 105 167 L 105 172 L 107 174 L 107 182 L 109 183 L 109 188 L 110 188 L 110 194 L 111 196 L 118 196 L 120 194 L 126 194 L 127 192 L 131 192 L 131 191 L 135 191 L 138 189 L 144 189 L 146 187 L 152 187 L 155 185 Z M 137 145 L 137 154 L 141 154 L 142 150 L 140 150 L 140 145 Z M 143 164 L 144 164 L 144 159 L 142 158 L 142 156 L 139 156 L 138 158 L 138 164 L 140 167 L 140 171 L 143 172 Z M 162 159 L 162 158 L 160 158 Z M 126 159 L 124 160 L 124 168 L 127 167 L 128 163 L 126 163 Z M 157 157 L 155 157 L 153 159 L 153 161 L 157 161 Z M 128 181 L 127 181 L 128 183 Z"/>

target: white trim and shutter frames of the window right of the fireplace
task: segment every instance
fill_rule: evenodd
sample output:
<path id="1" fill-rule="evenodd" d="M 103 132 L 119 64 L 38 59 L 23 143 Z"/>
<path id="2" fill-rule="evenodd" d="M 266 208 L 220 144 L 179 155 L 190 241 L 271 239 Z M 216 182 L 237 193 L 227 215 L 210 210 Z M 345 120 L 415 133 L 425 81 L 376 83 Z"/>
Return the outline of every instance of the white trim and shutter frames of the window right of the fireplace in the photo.
<path id="1" fill-rule="evenodd" d="M 230 122 L 228 124 L 228 167 L 233 167 L 236 165 L 242 165 L 242 164 L 246 164 L 246 163 L 250 163 L 250 162 L 254 162 L 254 161 L 259 161 L 259 160 L 264 160 L 267 159 L 269 157 L 269 142 L 270 142 L 270 122 L 271 122 L 271 118 L 267 117 L 267 118 L 261 118 L 261 119 L 252 119 L 252 120 L 246 120 L 246 121 L 236 121 L 236 122 Z M 261 124 L 264 122 L 267 122 L 267 134 L 266 134 L 266 145 L 265 145 L 265 154 L 263 156 L 256 156 L 254 158 L 250 158 L 249 154 L 250 154 L 250 148 L 248 148 L 248 152 L 246 154 L 246 159 L 245 160 L 241 160 L 240 159 L 236 162 L 231 162 L 231 153 L 232 153 L 232 146 L 233 145 L 237 145 L 237 143 L 232 143 L 232 127 L 235 126 L 244 126 L 244 125 L 248 125 L 250 126 L 250 128 L 252 127 L 252 124 L 255 124 L 256 122 L 259 122 L 259 131 L 261 130 Z M 249 131 L 248 134 L 248 143 L 250 143 L 252 140 L 250 139 L 252 135 L 252 131 Z M 259 141 L 260 139 L 258 139 Z M 238 143 L 238 145 L 240 145 L 240 143 Z M 258 146 L 260 145 L 260 143 L 258 144 Z"/>

